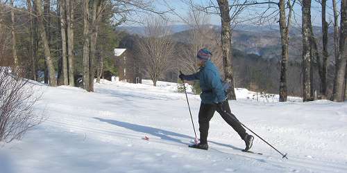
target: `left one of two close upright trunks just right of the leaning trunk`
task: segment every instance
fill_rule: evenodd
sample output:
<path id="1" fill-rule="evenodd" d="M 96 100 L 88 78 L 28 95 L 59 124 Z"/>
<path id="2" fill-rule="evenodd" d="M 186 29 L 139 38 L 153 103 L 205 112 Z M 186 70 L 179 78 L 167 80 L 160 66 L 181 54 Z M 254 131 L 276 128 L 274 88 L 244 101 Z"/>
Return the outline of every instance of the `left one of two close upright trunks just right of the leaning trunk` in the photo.
<path id="1" fill-rule="evenodd" d="M 62 37 L 62 75 L 64 85 L 69 84 L 69 78 L 67 74 L 67 33 L 66 33 L 66 6 L 67 0 L 59 0 L 59 11 L 60 11 L 60 32 Z"/>

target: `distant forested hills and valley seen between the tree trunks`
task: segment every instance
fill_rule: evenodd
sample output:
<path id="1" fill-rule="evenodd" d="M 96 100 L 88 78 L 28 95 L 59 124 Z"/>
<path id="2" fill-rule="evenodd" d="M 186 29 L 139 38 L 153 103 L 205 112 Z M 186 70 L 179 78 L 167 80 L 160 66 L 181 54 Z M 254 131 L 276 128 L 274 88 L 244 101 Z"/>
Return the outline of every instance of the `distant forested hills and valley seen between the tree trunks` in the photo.
<path id="1" fill-rule="evenodd" d="M 171 59 L 175 59 L 180 56 L 185 56 L 184 51 L 189 42 L 185 42 L 185 38 L 189 38 L 191 30 L 187 29 L 187 26 L 171 26 L 173 28 L 178 28 L 177 30 L 183 30 L 178 33 L 171 35 L 172 40 L 175 42 L 175 55 Z M 217 26 L 209 26 L 216 32 L 219 31 Z M 299 30 L 300 28 L 296 28 Z M 319 28 L 316 28 L 318 30 Z M 119 48 L 128 48 L 134 53 L 138 53 L 136 43 L 139 42 L 142 37 L 141 31 L 143 28 L 130 28 L 130 27 L 120 27 L 116 29 L 120 32 L 121 41 L 119 42 Z M 120 31 L 119 31 L 120 30 Z M 295 31 L 295 30 L 294 30 Z M 130 32 L 130 33 L 128 33 Z M 317 32 L 318 33 L 318 32 Z M 288 71 L 288 94 L 301 96 L 302 95 L 302 81 L 303 73 L 301 66 L 301 33 L 293 32 L 293 42 L 289 45 L 289 71 Z M 294 37 L 295 36 L 295 37 Z M 320 36 L 321 37 L 321 36 Z M 321 39 L 321 38 L 319 38 Z M 278 30 L 274 30 L 271 27 L 266 26 L 252 26 L 251 29 L 248 27 L 245 30 L 238 27 L 233 35 L 232 44 L 232 64 L 235 78 L 235 87 L 246 88 L 251 91 L 265 92 L 265 93 L 278 93 L 279 82 L 280 82 L 280 57 L 281 57 L 281 46 L 280 46 L 280 35 Z M 329 40 L 333 42 L 332 40 Z M 189 46 L 188 46 L 189 47 Z M 213 52 L 212 52 L 213 53 Z M 221 64 L 221 56 L 212 55 L 212 61 L 219 64 L 219 71 L 223 75 L 223 66 Z M 141 56 L 137 54 L 137 56 Z M 330 54 L 331 59 L 332 53 Z M 138 60 L 142 62 L 141 60 Z M 171 64 L 176 64 L 179 62 L 172 61 Z M 334 62 L 330 63 L 328 68 L 328 84 L 330 89 L 332 89 L 332 81 L 335 71 Z M 144 64 L 142 64 L 143 66 Z M 176 64 L 175 68 L 169 68 L 164 75 L 160 78 L 162 81 L 167 82 L 178 82 L 178 71 L 179 65 Z M 146 74 L 146 73 L 144 73 Z M 318 68 L 314 66 L 315 80 L 313 86 L 315 89 L 319 89 L 319 76 Z M 149 76 L 144 75 L 144 78 L 149 78 Z M 328 91 L 331 94 L 331 90 Z"/>

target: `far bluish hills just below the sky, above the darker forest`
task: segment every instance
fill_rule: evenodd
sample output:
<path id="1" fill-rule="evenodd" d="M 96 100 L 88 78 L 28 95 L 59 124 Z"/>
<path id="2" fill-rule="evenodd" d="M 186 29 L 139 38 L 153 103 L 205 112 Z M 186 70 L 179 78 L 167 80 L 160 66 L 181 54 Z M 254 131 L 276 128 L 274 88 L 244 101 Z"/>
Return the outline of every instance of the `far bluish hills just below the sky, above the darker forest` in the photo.
<path id="1" fill-rule="evenodd" d="M 216 33 L 220 33 L 220 26 L 209 25 Z M 119 26 L 118 30 L 123 30 L 130 35 L 143 35 L 143 26 Z M 186 25 L 173 25 L 170 26 L 173 39 L 176 42 L 186 40 L 189 33 L 189 27 Z M 321 40 L 321 26 L 314 26 L 314 35 Z M 329 34 L 332 35 L 332 28 L 329 28 Z M 289 61 L 301 62 L 301 28 L 291 27 L 289 30 L 290 43 L 289 43 Z M 333 37 L 329 37 L 329 50 L 330 60 L 334 62 L 335 58 L 332 56 L 332 43 Z M 232 32 L 232 48 L 242 51 L 245 54 L 259 55 L 264 59 L 280 60 L 281 46 L 280 46 L 280 30 L 278 26 L 251 26 L 239 25 L 235 26 Z M 319 44 L 319 47 L 321 44 Z"/>

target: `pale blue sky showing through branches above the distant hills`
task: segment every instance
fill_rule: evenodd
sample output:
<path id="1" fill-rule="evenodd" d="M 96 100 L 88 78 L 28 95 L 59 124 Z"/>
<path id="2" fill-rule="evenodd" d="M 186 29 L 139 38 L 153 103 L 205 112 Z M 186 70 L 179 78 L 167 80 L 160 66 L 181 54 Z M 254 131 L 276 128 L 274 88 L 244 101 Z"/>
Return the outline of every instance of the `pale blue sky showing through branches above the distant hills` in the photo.
<path id="1" fill-rule="evenodd" d="M 185 0 L 187 1 L 187 0 Z M 188 0 L 189 1 L 189 0 Z M 192 0 L 194 3 L 198 4 L 208 4 L 209 1 L 215 1 L 217 4 L 216 0 Z M 241 0 L 243 2 L 243 0 Z M 266 1 L 266 0 L 258 0 L 260 1 Z M 298 0 L 296 0 L 298 2 Z M 338 8 L 340 6 L 340 0 L 338 1 Z M 169 4 L 169 8 L 173 8 L 175 12 L 180 15 L 181 17 L 186 17 L 187 12 L 189 11 L 189 6 L 187 4 L 183 3 L 181 0 L 154 0 L 154 5 L 157 10 L 165 11 L 169 10 L 168 6 L 166 3 Z M 232 1 L 230 1 L 232 2 Z M 327 2 L 327 20 L 329 22 L 329 19 L 332 19 L 332 0 L 328 0 Z M 274 5 L 272 5 L 274 6 Z M 241 17 L 242 19 L 246 19 L 246 17 L 256 17 L 257 15 L 255 13 L 260 13 L 263 12 L 266 9 L 267 5 L 262 5 L 262 8 L 258 6 L 258 8 L 252 7 L 249 8 L 249 10 L 245 10 Z M 295 18 L 296 20 L 293 20 L 293 24 L 299 26 L 301 24 L 301 6 L 299 3 L 296 3 L 294 6 L 294 11 L 295 11 Z M 272 12 L 272 11 L 271 11 Z M 182 24 L 180 22 L 180 18 L 177 17 L 176 15 L 168 15 L 169 19 L 173 21 L 173 24 Z M 135 17 L 136 19 L 136 17 Z M 316 2 L 316 0 L 312 0 L 312 22 L 315 26 L 321 26 L 321 5 Z M 215 25 L 220 25 L 220 19 L 218 15 L 211 15 L 210 16 L 210 23 L 215 24 Z M 267 22 L 266 24 L 273 24 L 277 25 L 276 19 L 271 19 L 270 22 Z"/>

